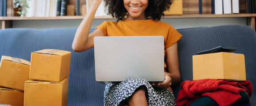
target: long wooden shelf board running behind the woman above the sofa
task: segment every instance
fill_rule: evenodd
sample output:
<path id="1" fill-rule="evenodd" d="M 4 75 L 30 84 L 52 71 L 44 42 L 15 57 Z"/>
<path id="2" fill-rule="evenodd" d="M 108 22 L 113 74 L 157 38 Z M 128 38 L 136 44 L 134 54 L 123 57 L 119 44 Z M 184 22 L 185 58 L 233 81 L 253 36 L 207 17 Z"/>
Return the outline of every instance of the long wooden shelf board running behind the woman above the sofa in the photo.
<path id="1" fill-rule="evenodd" d="M 225 18 L 225 17 L 256 17 L 256 14 L 203 14 L 203 15 L 165 15 L 163 18 Z M 83 19 L 84 16 L 56 16 L 56 17 L 0 17 L 0 20 L 59 20 Z M 113 19 L 111 16 L 95 16 L 95 19 Z"/>

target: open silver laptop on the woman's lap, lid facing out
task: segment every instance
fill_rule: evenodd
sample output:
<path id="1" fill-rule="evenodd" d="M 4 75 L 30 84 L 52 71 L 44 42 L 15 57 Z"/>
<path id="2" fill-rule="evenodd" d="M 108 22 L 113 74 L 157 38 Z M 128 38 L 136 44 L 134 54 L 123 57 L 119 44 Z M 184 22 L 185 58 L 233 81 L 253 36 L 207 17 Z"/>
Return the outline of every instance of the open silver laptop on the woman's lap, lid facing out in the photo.
<path id="1" fill-rule="evenodd" d="M 95 37 L 95 77 L 101 83 L 142 78 L 164 81 L 162 36 Z"/>

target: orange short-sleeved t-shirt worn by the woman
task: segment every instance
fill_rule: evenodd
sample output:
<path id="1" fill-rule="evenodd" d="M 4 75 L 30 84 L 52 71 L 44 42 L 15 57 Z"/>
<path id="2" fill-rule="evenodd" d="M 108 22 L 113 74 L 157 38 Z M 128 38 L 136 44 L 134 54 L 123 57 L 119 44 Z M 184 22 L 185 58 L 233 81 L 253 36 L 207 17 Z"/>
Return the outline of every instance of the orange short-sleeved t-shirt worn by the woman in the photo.
<path id="1" fill-rule="evenodd" d="M 96 28 L 102 30 L 105 36 L 163 36 L 165 49 L 182 37 L 171 25 L 153 19 L 104 21 Z"/>

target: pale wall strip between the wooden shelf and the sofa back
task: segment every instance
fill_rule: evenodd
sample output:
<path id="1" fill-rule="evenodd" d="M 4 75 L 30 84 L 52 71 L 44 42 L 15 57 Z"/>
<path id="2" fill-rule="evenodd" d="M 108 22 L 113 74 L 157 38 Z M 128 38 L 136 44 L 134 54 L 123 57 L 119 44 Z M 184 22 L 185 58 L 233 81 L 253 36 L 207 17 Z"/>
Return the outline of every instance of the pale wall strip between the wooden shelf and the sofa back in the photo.
<path id="1" fill-rule="evenodd" d="M 70 28 L 78 27 L 82 19 L 72 20 L 13 20 L 14 28 Z M 91 28 L 95 28 L 103 21 L 116 21 L 116 19 L 95 19 Z M 192 27 L 212 27 L 221 25 L 246 25 L 246 18 L 167 18 L 161 19 L 176 29 Z"/>

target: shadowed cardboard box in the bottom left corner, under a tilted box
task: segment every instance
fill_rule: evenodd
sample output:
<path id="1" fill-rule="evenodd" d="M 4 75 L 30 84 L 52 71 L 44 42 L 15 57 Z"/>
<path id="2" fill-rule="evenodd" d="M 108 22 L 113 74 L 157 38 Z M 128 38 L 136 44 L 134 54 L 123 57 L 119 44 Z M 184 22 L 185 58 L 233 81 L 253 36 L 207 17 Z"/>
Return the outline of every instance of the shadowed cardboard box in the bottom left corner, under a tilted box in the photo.
<path id="1" fill-rule="evenodd" d="M 0 104 L 23 106 L 24 91 L 17 91 L 13 89 L 0 87 Z"/>

